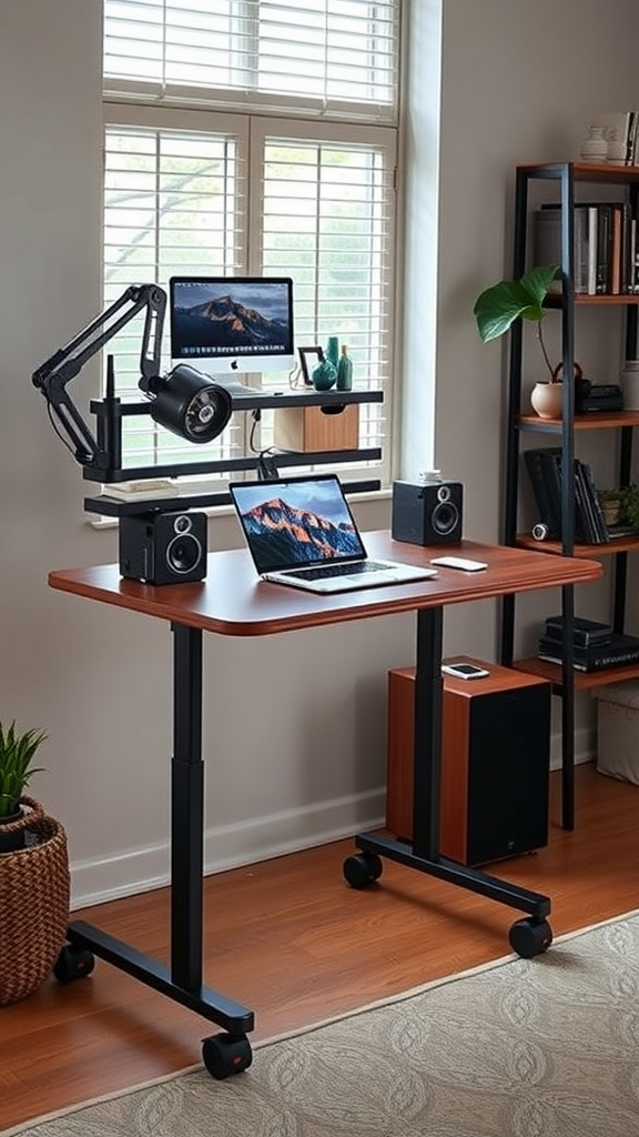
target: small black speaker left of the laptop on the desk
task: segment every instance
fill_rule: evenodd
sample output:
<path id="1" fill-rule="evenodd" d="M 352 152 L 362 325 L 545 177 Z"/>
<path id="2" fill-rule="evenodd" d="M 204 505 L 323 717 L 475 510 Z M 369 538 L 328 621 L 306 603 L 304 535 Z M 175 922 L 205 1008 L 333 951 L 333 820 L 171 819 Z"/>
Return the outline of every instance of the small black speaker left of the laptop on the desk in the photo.
<path id="1" fill-rule="evenodd" d="M 119 571 L 146 584 L 204 580 L 206 513 L 141 513 L 119 518 Z"/>

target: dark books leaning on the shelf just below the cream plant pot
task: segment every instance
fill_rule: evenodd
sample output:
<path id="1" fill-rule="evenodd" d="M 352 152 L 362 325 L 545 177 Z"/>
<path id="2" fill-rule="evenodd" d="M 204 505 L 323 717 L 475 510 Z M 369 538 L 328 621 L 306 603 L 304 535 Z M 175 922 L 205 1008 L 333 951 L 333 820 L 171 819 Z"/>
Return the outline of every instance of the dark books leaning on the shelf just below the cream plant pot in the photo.
<path id="1" fill-rule="evenodd" d="M 548 536 L 562 538 L 562 448 L 539 447 L 524 451 L 524 462 L 531 480 L 539 520 L 548 528 Z M 592 479 L 586 462 L 574 459 L 574 533 L 586 545 L 605 545 L 611 534 Z"/>

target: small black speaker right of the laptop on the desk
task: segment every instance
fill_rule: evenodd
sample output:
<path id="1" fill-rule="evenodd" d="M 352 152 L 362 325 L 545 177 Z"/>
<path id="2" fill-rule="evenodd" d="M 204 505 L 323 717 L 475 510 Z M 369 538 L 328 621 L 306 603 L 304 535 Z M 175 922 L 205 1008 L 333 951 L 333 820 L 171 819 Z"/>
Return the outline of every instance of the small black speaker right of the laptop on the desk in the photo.
<path id="1" fill-rule="evenodd" d="M 393 482 L 391 536 L 412 545 L 462 540 L 462 482 Z"/>

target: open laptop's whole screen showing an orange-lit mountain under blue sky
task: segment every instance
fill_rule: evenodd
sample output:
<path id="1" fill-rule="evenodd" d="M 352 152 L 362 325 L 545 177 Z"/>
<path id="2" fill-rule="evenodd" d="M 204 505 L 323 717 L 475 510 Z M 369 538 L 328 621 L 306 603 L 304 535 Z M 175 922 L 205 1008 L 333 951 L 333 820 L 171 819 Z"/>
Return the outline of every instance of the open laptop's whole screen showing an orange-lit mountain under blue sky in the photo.
<path id="1" fill-rule="evenodd" d="M 258 573 L 366 556 L 334 474 L 229 488 Z"/>

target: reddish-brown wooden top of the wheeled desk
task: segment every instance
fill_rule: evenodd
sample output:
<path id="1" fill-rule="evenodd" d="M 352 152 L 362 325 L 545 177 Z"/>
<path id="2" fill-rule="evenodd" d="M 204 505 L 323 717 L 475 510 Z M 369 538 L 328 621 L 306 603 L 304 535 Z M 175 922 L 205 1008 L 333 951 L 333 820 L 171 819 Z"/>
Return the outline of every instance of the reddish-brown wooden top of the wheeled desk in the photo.
<path id="1" fill-rule="evenodd" d="M 488 562 L 482 572 L 438 568 L 438 575 L 412 584 L 384 586 L 334 596 L 258 580 L 246 549 L 211 553 L 206 580 L 193 584 L 142 584 L 124 580 L 117 564 L 59 570 L 49 574 L 51 588 L 149 616 L 201 628 L 222 636 L 268 636 L 321 624 L 365 620 L 528 592 L 561 584 L 598 580 L 597 561 L 562 557 L 499 545 L 460 541 L 424 548 L 393 541 L 379 530 L 364 534 L 368 554 L 428 565 L 431 557 L 455 554 Z"/>

